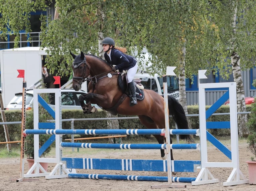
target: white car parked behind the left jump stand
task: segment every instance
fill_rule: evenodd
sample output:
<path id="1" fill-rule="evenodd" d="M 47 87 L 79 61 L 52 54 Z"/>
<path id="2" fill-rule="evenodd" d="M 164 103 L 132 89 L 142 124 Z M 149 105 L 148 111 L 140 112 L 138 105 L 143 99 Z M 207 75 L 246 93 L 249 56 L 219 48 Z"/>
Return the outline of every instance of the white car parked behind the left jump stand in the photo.
<path id="1" fill-rule="evenodd" d="M 73 89 L 61 89 L 61 109 L 82 109 L 78 97 L 86 92 L 83 90 L 75 91 Z M 54 102 L 50 105 L 53 107 Z M 97 110 L 102 110 L 97 104 L 92 104 Z M 33 106 L 33 90 L 26 91 L 26 109 L 31 109 Z M 22 108 L 22 92 L 16 93 L 8 103 L 6 110 Z"/>

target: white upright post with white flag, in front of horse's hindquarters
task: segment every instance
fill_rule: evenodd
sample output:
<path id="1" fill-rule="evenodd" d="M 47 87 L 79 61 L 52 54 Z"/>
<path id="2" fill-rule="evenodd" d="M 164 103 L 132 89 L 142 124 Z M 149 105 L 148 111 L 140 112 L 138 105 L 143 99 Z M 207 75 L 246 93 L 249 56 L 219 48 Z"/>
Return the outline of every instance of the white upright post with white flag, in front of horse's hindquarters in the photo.
<path id="1" fill-rule="evenodd" d="M 171 147 L 170 147 L 170 129 L 169 129 L 169 109 L 168 109 L 168 92 L 167 92 L 167 76 L 176 76 L 173 70 L 176 67 L 167 66 L 166 76 L 163 75 L 163 98 L 164 98 L 164 115 L 165 115 L 165 139 L 166 139 L 166 150 L 167 155 L 167 172 L 168 172 L 168 184 L 154 185 L 151 189 L 155 188 L 186 188 L 186 185 L 182 184 L 172 184 L 171 176 Z"/>

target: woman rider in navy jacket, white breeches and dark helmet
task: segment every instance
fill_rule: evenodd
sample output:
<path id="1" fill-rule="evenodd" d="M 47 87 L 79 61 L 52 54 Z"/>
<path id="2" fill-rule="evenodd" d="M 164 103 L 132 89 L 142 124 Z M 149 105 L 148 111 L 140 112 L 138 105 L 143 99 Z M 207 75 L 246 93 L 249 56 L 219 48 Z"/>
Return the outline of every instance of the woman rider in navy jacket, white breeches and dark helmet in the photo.
<path id="1" fill-rule="evenodd" d="M 110 37 L 104 38 L 101 44 L 103 46 L 103 50 L 105 51 L 105 60 L 112 66 L 112 70 L 119 70 L 120 72 L 127 70 L 130 106 L 136 105 L 136 87 L 133 82 L 133 77 L 138 69 L 137 60 L 134 57 L 125 54 L 127 52 L 126 48 L 115 47 L 115 41 Z"/>

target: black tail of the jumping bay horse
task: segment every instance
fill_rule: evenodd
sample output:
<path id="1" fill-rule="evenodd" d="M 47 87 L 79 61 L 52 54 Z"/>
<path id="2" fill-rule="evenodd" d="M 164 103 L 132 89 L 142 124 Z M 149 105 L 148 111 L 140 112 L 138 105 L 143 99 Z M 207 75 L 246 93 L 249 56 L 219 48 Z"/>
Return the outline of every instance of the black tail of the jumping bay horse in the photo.
<path id="1" fill-rule="evenodd" d="M 178 129 L 188 129 L 188 122 L 185 111 L 182 105 L 171 95 L 168 95 L 169 115 L 177 124 Z M 194 142 L 190 135 L 180 135 L 181 139 L 186 139 L 189 142 Z"/>

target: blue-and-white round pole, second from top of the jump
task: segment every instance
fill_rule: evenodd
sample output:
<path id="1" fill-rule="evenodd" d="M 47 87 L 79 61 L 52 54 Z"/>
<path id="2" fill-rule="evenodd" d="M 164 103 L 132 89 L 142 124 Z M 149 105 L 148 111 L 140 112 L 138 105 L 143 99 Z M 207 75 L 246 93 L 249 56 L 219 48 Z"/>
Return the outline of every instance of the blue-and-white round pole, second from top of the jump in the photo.
<path id="1" fill-rule="evenodd" d="M 166 144 L 107 144 L 61 142 L 61 147 L 109 149 L 166 149 Z M 198 149 L 200 144 L 170 144 L 171 149 Z"/>

